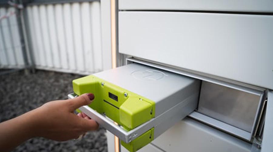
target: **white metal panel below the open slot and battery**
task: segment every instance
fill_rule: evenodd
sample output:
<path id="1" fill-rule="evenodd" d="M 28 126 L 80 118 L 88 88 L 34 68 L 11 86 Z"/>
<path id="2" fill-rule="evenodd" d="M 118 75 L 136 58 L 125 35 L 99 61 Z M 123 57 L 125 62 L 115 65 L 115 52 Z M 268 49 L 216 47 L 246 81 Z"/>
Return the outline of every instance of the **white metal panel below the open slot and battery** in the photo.
<path id="1" fill-rule="evenodd" d="M 166 152 L 249 152 L 251 144 L 185 118 L 152 141 Z"/>

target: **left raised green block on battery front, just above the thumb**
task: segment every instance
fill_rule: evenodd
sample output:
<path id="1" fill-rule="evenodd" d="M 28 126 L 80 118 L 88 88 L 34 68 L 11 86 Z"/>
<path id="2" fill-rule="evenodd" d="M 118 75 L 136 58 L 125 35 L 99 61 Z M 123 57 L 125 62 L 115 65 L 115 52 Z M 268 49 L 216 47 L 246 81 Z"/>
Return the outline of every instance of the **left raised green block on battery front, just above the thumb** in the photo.
<path id="1" fill-rule="evenodd" d="M 72 81 L 73 91 L 76 93 L 76 95 L 82 95 L 90 92 L 91 90 L 95 91 L 95 83 L 97 83 L 97 81 L 92 75 L 75 79 Z"/>

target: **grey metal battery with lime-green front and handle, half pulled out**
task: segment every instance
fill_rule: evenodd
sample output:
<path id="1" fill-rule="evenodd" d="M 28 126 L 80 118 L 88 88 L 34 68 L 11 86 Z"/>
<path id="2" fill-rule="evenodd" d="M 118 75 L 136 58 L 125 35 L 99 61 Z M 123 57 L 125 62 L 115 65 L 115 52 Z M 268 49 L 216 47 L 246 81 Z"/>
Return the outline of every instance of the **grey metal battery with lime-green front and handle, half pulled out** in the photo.
<path id="1" fill-rule="evenodd" d="M 132 152 L 197 108 L 200 80 L 133 63 L 76 79 L 73 91 L 69 98 L 87 92 L 95 95 L 90 105 L 79 110 Z"/>

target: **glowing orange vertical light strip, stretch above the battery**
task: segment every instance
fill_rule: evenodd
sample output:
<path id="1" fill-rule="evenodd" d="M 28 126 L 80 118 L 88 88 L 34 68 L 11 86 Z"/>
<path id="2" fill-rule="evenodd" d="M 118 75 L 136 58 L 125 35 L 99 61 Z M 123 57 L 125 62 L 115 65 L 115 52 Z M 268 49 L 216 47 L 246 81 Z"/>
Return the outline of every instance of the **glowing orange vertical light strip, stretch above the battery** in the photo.
<path id="1" fill-rule="evenodd" d="M 111 54 L 112 68 L 116 68 L 116 0 L 111 0 Z"/>

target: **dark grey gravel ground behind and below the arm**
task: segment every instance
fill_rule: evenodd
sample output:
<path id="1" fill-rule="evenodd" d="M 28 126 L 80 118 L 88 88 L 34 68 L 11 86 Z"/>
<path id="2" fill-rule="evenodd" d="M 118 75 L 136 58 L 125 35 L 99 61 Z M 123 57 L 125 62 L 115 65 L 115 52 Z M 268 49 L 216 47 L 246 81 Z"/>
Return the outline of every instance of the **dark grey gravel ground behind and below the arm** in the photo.
<path id="1" fill-rule="evenodd" d="M 1 71 L 0 71 L 1 72 Z M 0 75 L 0 122 L 12 119 L 35 109 L 45 102 L 66 99 L 72 92 L 72 80 L 82 77 L 38 70 L 32 74 L 24 71 Z M 56 142 L 33 138 L 17 147 L 14 152 L 106 152 L 105 130 L 89 132 L 77 142 Z"/>

